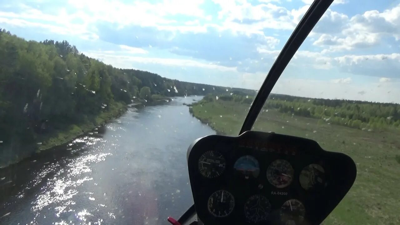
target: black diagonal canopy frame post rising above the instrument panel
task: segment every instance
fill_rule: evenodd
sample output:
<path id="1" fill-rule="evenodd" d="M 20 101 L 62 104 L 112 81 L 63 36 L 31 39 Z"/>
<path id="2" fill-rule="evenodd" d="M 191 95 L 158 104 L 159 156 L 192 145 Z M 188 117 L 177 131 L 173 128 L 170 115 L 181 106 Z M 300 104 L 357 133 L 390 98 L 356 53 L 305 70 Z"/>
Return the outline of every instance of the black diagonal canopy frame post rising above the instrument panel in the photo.
<path id="1" fill-rule="evenodd" d="M 252 129 L 262 106 L 264 106 L 280 75 L 332 2 L 333 0 L 315 0 L 311 4 L 268 72 L 260 91 L 250 106 L 239 135 Z"/>

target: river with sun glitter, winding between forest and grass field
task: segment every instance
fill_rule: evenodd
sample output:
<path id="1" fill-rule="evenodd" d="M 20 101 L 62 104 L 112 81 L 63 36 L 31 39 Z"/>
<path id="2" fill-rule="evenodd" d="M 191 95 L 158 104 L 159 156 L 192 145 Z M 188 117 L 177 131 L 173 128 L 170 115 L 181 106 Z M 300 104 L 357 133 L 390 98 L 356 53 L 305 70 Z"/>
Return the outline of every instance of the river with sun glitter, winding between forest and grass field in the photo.
<path id="1" fill-rule="evenodd" d="M 93 134 L 0 170 L 0 224 L 177 219 L 193 203 L 186 151 L 195 139 L 215 133 L 182 104 L 193 99 L 201 97 L 128 108 Z"/>

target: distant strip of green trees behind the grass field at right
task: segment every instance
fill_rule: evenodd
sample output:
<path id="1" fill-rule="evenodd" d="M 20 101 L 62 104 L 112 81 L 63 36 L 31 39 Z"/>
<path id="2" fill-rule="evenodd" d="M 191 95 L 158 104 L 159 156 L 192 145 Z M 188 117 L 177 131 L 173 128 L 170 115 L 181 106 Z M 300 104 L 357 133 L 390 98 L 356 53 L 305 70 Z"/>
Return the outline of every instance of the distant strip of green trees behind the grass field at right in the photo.
<path id="1" fill-rule="evenodd" d="M 221 96 L 207 95 L 204 101 L 234 101 L 250 104 L 254 96 L 232 93 Z M 199 103 L 201 104 L 201 102 Z M 275 108 L 288 115 L 311 117 L 326 123 L 362 130 L 400 129 L 400 104 L 354 100 L 304 98 L 271 94 L 263 110 Z"/>

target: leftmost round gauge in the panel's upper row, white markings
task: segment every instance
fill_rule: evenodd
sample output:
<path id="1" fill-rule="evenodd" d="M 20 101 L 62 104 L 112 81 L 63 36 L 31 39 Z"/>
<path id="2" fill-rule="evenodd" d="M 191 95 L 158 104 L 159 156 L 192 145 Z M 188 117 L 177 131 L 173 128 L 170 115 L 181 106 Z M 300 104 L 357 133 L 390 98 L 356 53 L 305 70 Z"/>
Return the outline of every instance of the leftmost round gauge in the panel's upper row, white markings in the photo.
<path id="1" fill-rule="evenodd" d="M 225 158 L 218 151 L 206 151 L 199 158 L 198 168 L 204 177 L 218 177 L 225 170 Z"/>

